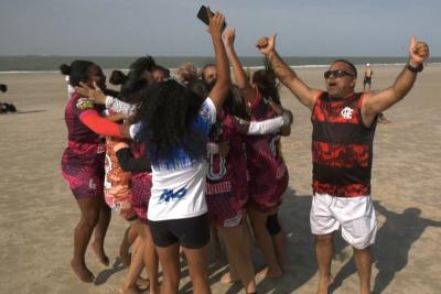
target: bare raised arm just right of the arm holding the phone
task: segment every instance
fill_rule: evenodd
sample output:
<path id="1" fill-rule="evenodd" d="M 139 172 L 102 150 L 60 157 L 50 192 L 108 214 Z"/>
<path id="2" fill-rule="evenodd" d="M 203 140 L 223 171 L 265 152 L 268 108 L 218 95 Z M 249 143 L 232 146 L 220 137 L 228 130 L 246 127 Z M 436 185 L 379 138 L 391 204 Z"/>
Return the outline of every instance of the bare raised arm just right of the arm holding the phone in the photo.
<path id="1" fill-rule="evenodd" d="M 236 85 L 240 89 L 241 95 L 248 101 L 256 98 L 256 89 L 249 84 L 249 77 L 244 70 L 239 57 L 237 57 L 236 51 L 234 48 L 236 32 L 235 29 L 227 29 L 224 33 L 225 50 L 228 55 L 229 63 L 233 66 L 233 73 L 236 78 Z"/>

